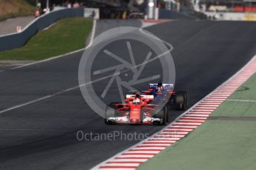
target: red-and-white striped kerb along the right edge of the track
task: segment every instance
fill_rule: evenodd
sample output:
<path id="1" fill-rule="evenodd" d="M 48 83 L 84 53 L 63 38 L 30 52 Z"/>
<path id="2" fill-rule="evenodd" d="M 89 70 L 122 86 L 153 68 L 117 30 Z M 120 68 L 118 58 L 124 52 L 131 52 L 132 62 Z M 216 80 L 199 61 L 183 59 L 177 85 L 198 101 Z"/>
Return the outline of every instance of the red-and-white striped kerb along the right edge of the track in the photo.
<path id="1" fill-rule="evenodd" d="M 137 169 L 140 164 L 151 159 L 166 147 L 173 145 L 204 123 L 209 115 L 255 72 L 256 56 L 232 78 L 229 78 L 206 98 L 192 106 L 165 129 L 130 149 L 116 154 L 93 169 Z"/>

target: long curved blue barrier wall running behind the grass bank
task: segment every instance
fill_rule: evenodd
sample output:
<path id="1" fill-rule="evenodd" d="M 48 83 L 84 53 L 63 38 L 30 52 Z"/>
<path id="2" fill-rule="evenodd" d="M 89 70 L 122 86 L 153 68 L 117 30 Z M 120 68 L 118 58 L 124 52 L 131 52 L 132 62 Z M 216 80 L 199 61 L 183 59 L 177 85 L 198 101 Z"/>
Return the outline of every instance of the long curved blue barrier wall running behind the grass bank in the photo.
<path id="1" fill-rule="evenodd" d="M 46 27 L 49 27 L 51 24 L 55 23 L 61 18 L 76 16 L 84 16 L 84 8 L 56 10 L 36 18 L 20 33 L 1 35 L 0 51 L 22 47 L 33 35 L 36 34 L 37 31 L 44 30 Z"/>

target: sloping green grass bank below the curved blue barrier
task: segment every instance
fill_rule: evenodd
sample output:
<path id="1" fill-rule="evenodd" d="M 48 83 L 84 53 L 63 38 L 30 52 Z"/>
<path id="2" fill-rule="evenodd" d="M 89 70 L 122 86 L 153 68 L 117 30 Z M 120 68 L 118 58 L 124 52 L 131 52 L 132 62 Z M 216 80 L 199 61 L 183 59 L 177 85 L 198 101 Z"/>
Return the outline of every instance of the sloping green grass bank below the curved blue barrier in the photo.
<path id="1" fill-rule="evenodd" d="M 92 21 L 86 18 L 65 18 L 47 30 L 39 31 L 24 47 L 0 52 L 0 60 L 38 61 L 85 47 Z"/>

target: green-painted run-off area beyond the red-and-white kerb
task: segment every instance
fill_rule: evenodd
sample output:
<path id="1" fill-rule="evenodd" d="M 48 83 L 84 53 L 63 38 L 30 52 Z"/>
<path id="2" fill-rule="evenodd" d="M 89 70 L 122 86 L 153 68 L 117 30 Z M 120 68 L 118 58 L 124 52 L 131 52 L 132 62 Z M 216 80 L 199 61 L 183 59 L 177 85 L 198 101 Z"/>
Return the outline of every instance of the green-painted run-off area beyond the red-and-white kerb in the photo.
<path id="1" fill-rule="evenodd" d="M 256 75 L 229 99 L 256 101 Z M 256 103 L 225 101 L 211 116 L 256 118 Z M 255 170 L 256 121 L 206 120 L 187 137 L 157 154 L 139 169 Z"/>

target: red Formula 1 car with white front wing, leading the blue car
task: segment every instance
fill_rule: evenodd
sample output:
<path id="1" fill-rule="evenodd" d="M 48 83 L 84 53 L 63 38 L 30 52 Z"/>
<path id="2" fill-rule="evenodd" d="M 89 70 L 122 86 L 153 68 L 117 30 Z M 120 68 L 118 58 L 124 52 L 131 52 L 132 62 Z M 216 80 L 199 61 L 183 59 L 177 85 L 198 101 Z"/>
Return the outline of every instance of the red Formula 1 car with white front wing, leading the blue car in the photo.
<path id="1" fill-rule="evenodd" d="M 168 121 L 168 106 L 154 103 L 154 95 L 126 95 L 125 103 L 111 103 L 105 110 L 106 124 L 156 124 Z"/>

